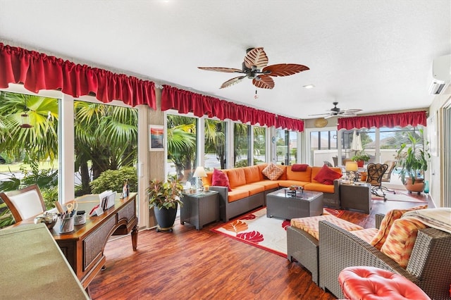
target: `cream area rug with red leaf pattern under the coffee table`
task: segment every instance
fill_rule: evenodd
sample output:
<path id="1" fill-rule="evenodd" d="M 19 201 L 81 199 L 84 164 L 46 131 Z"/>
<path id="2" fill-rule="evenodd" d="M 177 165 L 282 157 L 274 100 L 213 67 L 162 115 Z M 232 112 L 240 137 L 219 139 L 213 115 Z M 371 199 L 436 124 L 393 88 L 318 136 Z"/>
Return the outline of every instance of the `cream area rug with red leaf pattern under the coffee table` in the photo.
<path id="1" fill-rule="evenodd" d="M 339 217 L 344 212 L 324 208 L 324 213 Z M 211 231 L 286 258 L 286 227 L 289 225 L 290 220 L 266 218 L 266 208 L 260 208 L 257 211 L 230 220 L 221 226 L 214 227 Z"/>

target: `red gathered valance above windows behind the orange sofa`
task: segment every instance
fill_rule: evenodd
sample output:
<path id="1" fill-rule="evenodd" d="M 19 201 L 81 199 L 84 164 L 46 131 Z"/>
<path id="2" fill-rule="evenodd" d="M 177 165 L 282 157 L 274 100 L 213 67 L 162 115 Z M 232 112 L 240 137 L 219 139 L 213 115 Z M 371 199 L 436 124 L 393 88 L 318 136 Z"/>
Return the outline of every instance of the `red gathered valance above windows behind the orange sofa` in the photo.
<path id="1" fill-rule="evenodd" d="M 259 124 L 261 126 L 283 127 L 288 130 L 304 130 L 302 120 L 276 116 L 274 113 L 256 108 L 164 85 L 161 92 L 161 111 L 168 109 L 175 109 L 179 113 L 191 112 L 197 117 L 207 115 L 209 118 L 240 120 L 242 123 L 249 122 L 251 125 Z"/>

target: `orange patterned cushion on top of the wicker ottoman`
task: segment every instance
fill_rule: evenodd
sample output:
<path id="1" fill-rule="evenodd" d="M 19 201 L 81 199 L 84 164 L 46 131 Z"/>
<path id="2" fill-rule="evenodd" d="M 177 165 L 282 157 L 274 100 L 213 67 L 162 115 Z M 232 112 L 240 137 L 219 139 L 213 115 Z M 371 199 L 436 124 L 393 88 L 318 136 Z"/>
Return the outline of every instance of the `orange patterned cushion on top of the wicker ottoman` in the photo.
<path id="1" fill-rule="evenodd" d="M 304 230 L 315 239 L 319 239 L 319 221 L 322 220 L 326 220 L 347 231 L 364 229 L 362 226 L 337 218 L 335 215 L 317 215 L 315 217 L 294 218 L 291 219 L 290 225 L 292 227 L 299 228 L 300 230 Z"/>

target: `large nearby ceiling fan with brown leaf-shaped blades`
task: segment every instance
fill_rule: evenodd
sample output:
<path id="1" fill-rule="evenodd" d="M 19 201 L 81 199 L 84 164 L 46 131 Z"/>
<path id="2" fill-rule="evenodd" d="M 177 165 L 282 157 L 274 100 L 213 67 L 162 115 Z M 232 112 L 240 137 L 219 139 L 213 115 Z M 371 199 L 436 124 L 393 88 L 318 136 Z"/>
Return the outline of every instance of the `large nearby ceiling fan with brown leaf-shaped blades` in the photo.
<path id="1" fill-rule="evenodd" d="M 272 89 L 274 80 L 271 76 L 288 76 L 305 70 L 309 67 L 305 65 L 296 65 L 294 63 L 280 63 L 277 65 L 268 65 L 268 56 L 266 56 L 263 47 L 249 48 L 246 50 L 245 61 L 242 62 L 241 69 L 235 68 L 214 68 L 197 67 L 201 70 L 224 72 L 224 73 L 242 73 L 245 75 L 234 77 L 224 82 L 220 89 L 230 87 L 241 82 L 244 78 L 252 79 L 252 84 L 261 89 Z"/>

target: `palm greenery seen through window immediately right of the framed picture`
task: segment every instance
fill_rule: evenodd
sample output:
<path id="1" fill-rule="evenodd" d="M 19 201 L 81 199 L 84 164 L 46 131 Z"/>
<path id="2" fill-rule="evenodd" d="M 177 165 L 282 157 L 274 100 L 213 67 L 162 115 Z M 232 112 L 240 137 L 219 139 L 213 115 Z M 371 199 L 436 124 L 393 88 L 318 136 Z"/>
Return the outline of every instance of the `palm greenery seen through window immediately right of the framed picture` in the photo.
<path id="1" fill-rule="evenodd" d="M 197 118 L 167 115 L 168 175 L 191 180 L 197 166 Z"/>

